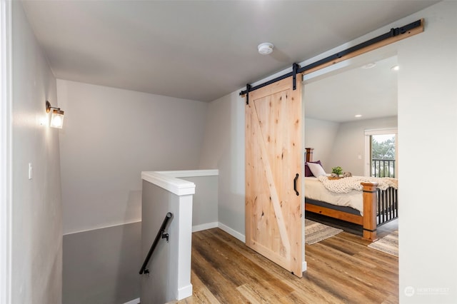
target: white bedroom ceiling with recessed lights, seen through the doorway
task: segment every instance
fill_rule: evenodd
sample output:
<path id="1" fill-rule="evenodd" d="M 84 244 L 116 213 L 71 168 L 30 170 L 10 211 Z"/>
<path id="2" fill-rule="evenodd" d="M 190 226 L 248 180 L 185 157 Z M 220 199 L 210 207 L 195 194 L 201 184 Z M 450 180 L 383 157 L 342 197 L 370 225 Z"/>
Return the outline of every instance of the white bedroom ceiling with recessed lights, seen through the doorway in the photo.
<path id="1" fill-rule="evenodd" d="M 326 121 L 355 121 L 396 116 L 397 57 L 372 61 L 375 66 L 351 66 L 341 73 L 305 82 L 305 116 Z M 356 115 L 361 117 L 356 118 Z"/>

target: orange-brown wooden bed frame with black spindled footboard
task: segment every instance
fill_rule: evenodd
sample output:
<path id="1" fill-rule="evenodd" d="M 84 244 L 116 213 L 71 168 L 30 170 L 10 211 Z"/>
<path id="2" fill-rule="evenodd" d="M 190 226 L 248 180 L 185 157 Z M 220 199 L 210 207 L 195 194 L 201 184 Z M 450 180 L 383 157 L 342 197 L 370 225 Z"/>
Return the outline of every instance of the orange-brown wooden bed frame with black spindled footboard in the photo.
<path id="1" fill-rule="evenodd" d="M 306 162 L 313 161 L 314 148 L 305 149 Z M 396 190 L 388 188 L 386 191 L 381 191 L 377 188 L 378 183 L 361 183 L 361 185 L 363 186 L 363 216 L 335 210 L 332 209 L 331 206 L 329 206 L 329 208 L 317 206 L 307 201 L 306 196 L 305 211 L 361 225 L 363 226 L 363 239 L 371 240 L 373 242 L 378 239 L 376 236 L 377 226 L 381 226 L 383 223 L 398 218 Z M 386 210 L 386 212 L 377 214 L 376 210 Z"/>

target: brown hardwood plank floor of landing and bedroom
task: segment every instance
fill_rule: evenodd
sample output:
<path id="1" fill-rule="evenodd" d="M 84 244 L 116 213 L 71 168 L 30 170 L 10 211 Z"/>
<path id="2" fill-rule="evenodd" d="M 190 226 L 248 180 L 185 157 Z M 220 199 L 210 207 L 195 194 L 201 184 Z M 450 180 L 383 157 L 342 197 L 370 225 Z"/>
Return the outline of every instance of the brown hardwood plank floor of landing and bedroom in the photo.
<path id="1" fill-rule="evenodd" d="M 398 258 L 369 243 L 343 232 L 305 245 L 308 270 L 297 278 L 219 228 L 199 231 L 194 294 L 175 303 L 398 303 Z"/>

